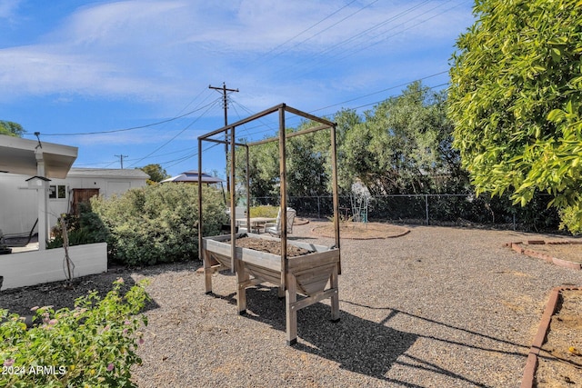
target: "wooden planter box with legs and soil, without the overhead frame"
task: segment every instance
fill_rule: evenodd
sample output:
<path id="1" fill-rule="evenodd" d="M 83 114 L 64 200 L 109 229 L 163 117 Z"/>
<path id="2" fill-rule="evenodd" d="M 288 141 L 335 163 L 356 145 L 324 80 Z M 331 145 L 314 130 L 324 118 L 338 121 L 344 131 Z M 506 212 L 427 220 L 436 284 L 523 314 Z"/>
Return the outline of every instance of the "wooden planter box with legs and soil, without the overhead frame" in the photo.
<path id="1" fill-rule="evenodd" d="M 278 238 L 261 234 L 237 234 L 236 238 L 261 239 L 280 242 Z M 236 272 L 236 299 L 238 313 L 246 313 L 246 288 L 262 283 L 276 284 L 279 296 L 282 296 L 286 284 L 286 341 L 296 343 L 297 311 L 331 298 L 331 320 L 339 320 L 339 295 L 337 289 L 337 272 L 339 267 L 339 249 L 327 246 L 289 241 L 287 247 L 305 250 L 306 254 L 287 256 L 287 268 L 277 254 L 256 251 L 255 249 L 236 246 L 236 258 L 232 260 L 231 235 L 205 237 L 202 255 L 206 276 L 206 293 L 212 293 L 212 274 L 216 271 L 230 269 Z M 289 250 L 287 249 L 287 252 Z M 232 264 L 235 264 L 233 268 Z M 282 277 L 286 274 L 286 278 Z M 285 283 L 284 283 L 285 282 Z"/>

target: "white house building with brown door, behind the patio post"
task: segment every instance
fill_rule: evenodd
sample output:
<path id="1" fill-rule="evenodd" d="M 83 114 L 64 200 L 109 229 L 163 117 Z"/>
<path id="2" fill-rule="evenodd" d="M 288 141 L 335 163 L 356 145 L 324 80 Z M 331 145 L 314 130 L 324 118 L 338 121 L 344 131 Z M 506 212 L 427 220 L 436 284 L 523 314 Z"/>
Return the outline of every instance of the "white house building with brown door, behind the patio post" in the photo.
<path id="1" fill-rule="evenodd" d="M 71 168 L 65 178 L 52 178 L 47 185 L 48 224 L 74 213 L 77 205 L 93 195 L 122 194 L 146 185 L 149 175 L 138 169 Z M 37 229 L 37 193 L 30 189 L 30 175 L 0 174 L 0 229 L 6 235 L 29 234 Z"/>

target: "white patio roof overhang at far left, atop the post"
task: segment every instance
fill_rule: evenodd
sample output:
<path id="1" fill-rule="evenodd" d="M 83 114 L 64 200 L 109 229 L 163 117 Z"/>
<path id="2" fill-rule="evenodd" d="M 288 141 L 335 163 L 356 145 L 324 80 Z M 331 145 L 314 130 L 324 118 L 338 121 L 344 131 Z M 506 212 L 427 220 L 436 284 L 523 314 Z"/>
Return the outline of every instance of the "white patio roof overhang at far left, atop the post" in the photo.
<path id="1" fill-rule="evenodd" d="M 40 155 L 45 162 L 45 177 L 65 178 L 75 162 L 78 148 L 63 144 L 41 143 L 37 149 L 37 140 L 22 139 L 20 137 L 0 134 L 0 172 L 37 175 L 36 155 Z"/>

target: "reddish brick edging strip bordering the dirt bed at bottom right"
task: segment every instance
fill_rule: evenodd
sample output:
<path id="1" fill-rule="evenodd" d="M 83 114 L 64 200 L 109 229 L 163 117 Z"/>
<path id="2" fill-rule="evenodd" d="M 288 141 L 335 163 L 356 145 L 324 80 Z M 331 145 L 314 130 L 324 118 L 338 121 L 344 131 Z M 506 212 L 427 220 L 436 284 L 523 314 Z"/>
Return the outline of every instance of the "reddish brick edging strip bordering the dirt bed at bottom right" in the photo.
<path id="1" fill-rule="evenodd" d="M 521 379 L 521 388 L 532 388 L 536 382 L 536 371 L 537 371 L 537 356 L 539 351 L 541 351 L 542 346 L 546 342 L 547 330 L 549 329 L 549 324 L 552 320 L 552 315 L 556 313 L 557 303 L 560 299 L 560 294 L 563 291 L 582 291 L 582 287 L 568 287 L 568 286 L 558 286 L 554 287 L 549 294 L 549 299 L 542 314 L 542 319 L 537 328 L 536 336 L 527 354 L 526 368 L 524 369 L 524 375 Z"/>

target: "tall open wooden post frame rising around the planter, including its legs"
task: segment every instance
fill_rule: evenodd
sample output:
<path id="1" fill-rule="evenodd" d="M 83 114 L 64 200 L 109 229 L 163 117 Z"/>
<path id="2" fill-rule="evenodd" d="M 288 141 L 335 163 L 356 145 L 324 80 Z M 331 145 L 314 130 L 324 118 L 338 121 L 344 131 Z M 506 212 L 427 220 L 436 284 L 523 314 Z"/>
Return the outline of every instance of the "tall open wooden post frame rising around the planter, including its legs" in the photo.
<path id="1" fill-rule="evenodd" d="M 276 137 L 264 139 L 261 141 L 248 143 L 248 144 L 240 144 L 236 143 L 236 127 L 242 124 L 247 124 L 254 120 L 257 120 L 261 117 L 264 117 L 268 114 L 274 114 L 278 112 L 279 114 L 279 134 Z M 286 134 L 286 113 L 296 114 L 301 117 L 304 117 L 308 120 L 314 121 L 319 123 L 312 128 L 307 128 L 306 130 Z M 229 166 L 229 175 L 230 175 L 230 265 L 229 267 L 231 270 L 235 271 L 238 278 L 239 278 L 239 285 L 238 285 L 238 292 L 237 292 L 237 307 L 239 313 L 246 313 L 246 294 L 244 293 L 244 289 L 247 285 L 253 284 L 252 281 L 248 281 L 246 275 L 246 268 L 245 264 L 240 263 L 240 260 L 236 259 L 236 196 L 235 196 L 235 187 L 236 187 L 236 147 L 244 147 L 246 149 L 246 224 L 250 225 L 250 193 L 249 193 L 249 148 L 253 145 L 257 144 L 265 144 L 269 142 L 275 142 L 278 140 L 279 142 L 279 173 L 280 173 L 280 189 L 281 189 L 281 198 L 280 198 L 280 206 L 281 209 L 286 209 L 287 201 L 286 201 L 286 139 L 289 137 L 301 135 L 301 134 L 309 134 L 312 132 L 330 129 L 330 152 L 331 152 L 331 164 L 332 164 L 332 191 L 333 191 L 333 208 L 334 208 L 334 228 L 335 228 L 335 240 L 336 244 L 332 247 L 336 253 L 332 254 L 336 256 L 336 270 L 334 274 L 330 278 L 332 283 L 332 290 L 328 290 L 323 293 L 317 293 L 316 295 L 310 295 L 306 298 L 306 300 L 302 300 L 297 302 L 296 301 L 296 277 L 295 274 L 292 274 L 289 271 L 289 259 L 287 258 L 287 223 L 286 223 L 286 211 L 280 212 L 281 217 L 281 263 L 280 263 L 280 288 L 279 288 L 279 296 L 282 296 L 282 292 L 286 293 L 286 304 L 287 304 L 287 343 L 293 344 L 296 343 L 296 310 L 299 310 L 306 305 L 311 303 L 316 303 L 317 301 L 324 299 L 325 297 L 332 297 L 332 320 L 339 319 L 339 306 L 338 306 L 338 296 L 337 296 L 337 274 L 341 273 L 341 261 L 340 261 L 340 239 L 339 239 L 339 202 L 338 202 L 338 194 L 337 194 L 337 161 L 336 161 L 336 124 L 332 123 L 324 118 L 317 117 L 313 114 L 307 114 L 306 112 L 302 112 L 298 109 L 292 108 L 287 106 L 286 104 L 278 104 L 273 106 L 269 109 L 266 109 L 263 112 L 259 112 L 252 116 L 247 117 L 246 119 L 237 121 L 234 124 L 227 124 L 222 128 L 217 129 L 216 131 L 210 132 L 208 134 L 204 134 L 198 137 L 198 171 L 203 171 L 202 168 L 202 142 L 214 142 L 218 144 L 226 144 L 230 145 L 231 150 L 231 157 L 230 157 L 230 166 Z M 225 134 L 226 140 L 217 140 L 213 139 L 213 136 L 217 134 Z M 200 178 L 199 178 L 200 180 Z M 203 230 L 203 221 L 202 221 L 202 182 L 198 182 L 198 252 L 199 257 L 205 260 L 205 275 L 206 275 L 206 293 L 210 293 L 212 291 L 212 280 L 211 280 L 211 271 L 207 264 L 206 252 L 205 252 L 205 242 L 202 236 Z M 225 236 L 226 237 L 226 236 Z M 325 254 L 329 255 L 329 254 Z M 298 281 L 298 279 L 297 279 Z M 240 289 L 243 288 L 243 292 L 241 293 Z"/>

